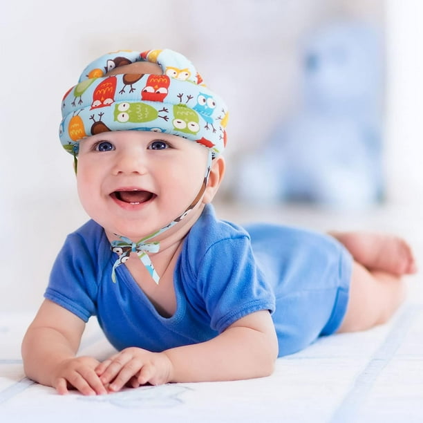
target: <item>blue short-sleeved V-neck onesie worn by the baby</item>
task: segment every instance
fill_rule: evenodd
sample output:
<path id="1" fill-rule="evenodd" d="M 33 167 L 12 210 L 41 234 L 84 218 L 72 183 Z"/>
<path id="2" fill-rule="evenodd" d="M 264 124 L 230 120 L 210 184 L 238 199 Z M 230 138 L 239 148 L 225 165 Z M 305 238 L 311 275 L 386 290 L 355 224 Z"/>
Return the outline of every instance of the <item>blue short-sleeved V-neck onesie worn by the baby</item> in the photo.
<path id="1" fill-rule="evenodd" d="M 216 219 L 212 205 L 185 238 L 173 274 L 177 308 L 162 317 L 93 220 L 68 235 L 45 297 L 82 320 L 96 315 L 118 350 L 151 351 L 216 337 L 234 321 L 270 310 L 279 357 L 335 332 L 346 311 L 352 259 L 335 239 L 281 225 L 244 228 Z"/>

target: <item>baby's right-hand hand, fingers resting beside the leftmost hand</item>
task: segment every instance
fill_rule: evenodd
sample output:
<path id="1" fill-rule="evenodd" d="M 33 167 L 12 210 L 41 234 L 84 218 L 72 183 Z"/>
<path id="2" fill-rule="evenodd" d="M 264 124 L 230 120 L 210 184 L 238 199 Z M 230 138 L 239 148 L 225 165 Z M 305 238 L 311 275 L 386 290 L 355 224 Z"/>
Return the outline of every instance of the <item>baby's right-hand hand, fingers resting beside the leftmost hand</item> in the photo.
<path id="1" fill-rule="evenodd" d="M 126 348 L 95 369 L 104 386 L 116 392 L 128 384 L 133 388 L 150 383 L 160 385 L 169 382 L 172 364 L 164 353 L 151 353 L 142 348 Z"/>

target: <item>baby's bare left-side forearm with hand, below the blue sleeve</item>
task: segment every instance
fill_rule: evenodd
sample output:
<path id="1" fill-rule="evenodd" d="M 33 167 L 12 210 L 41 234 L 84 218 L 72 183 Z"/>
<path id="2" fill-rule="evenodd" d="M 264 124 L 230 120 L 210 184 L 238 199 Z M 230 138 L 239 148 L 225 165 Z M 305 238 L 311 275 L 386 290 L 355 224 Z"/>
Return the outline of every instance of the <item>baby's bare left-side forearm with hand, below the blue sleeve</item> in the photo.
<path id="1" fill-rule="evenodd" d="M 26 375 L 61 394 L 68 392 L 68 386 L 85 395 L 106 393 L 95 373 L 99 361 L 75 356 L 84 328 L 84 321 L 75 314 L 45 300 L 23 338 Z"/>

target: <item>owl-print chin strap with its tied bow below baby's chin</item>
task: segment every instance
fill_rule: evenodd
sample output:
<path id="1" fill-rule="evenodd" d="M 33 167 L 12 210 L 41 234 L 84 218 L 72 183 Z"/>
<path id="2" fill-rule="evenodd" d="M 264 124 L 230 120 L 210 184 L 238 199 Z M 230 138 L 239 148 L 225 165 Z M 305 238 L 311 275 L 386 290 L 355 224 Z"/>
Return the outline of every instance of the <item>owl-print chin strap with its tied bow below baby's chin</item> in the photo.
<path id="1" fill-rule="evenodd" d="M 131 255 L 131 252 L 135 252 L 138 257 L 140 258 L 142 264 L 146 267 L 146 269 L 149 271 L 149 274 L 151 276 L 151 279 L 158 285 L 160 281 L 160 276 L 156 272 L 156 269 L 153 266 L 153 263 L 151 263 L 151 259 L 147 253 L 154 254 L 160 250 L 160 243 L 158 241 L 153 241 L 152 243 L 149 243 L 148 241 L 151 238 L 154 238 L 155 236 L 158 236 L 162 234 L 164 231 L 167 231 L 167 229 L 170 229 L 176 223 L 180 222 L 189 212 L 191 212 L 194 207 L 200 202 L 201 198 L 203 198 L 203 194 L 205 192 L 205 189 L 207 187 L 207 182 L 209 180 L 209 174 L 210 174 L 210 168 L 212 167 L 212 151 L 209 151 L 209 158 L 207 162 L 207 169 L 205 173 L 205 178 L 203 181 L 203 185 L 200 188 L 200 191 L 198 191 L 198 194 L 196 198 L 194 198 L 194 201 L 187 207 L 185 212 L 180 214 L 175 220 L 173 220 L 169 225 L 162 227 L 162 229 L 158 230 L 157 232 L 154 232 L 153 234 L 146 236 L 145 238 L 140 239 L 137 243 L 133 243 L 129 238 L 126 238 L 126 236 L 120 236 L 118 234 L 115 234 L 115 236 L 118 236 L 120 239 L 116 241 L 111 241 L 111 250 L 118 254 L 119 258 L 115 261 L 113 264 L 111 279 L 113 283 L 116 283 L 116 268 L 120 266 L 122 263 L 125 263 L 129 259 L 129 256 Z"/>

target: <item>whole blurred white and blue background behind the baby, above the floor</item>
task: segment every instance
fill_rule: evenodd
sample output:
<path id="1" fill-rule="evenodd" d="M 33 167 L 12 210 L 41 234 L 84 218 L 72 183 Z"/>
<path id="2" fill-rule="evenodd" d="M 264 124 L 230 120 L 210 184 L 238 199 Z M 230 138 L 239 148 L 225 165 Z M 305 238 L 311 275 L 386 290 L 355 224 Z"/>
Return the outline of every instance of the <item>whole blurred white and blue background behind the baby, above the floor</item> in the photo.
<path id="1" fill-rule="evenodd" d="M 66 234 L 87 220 L 60 102 L 111 50 L 179 50 L 225 98 L 223 214 L 421 216 L 422 17 L 419 0 L 4 3 L 0 310 L 39 305 Z"/>

